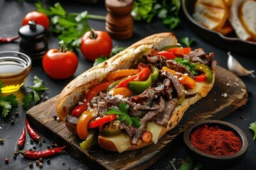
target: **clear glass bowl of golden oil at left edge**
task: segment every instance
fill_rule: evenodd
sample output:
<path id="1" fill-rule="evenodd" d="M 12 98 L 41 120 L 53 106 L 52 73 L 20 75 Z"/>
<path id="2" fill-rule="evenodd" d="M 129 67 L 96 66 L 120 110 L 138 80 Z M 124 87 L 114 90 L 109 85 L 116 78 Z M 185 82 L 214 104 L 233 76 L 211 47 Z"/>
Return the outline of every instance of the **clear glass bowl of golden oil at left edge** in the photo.
<path id="1" fill-rule="evenodd" d="M 31 64 L 31 58 L 22 52 L 0 52 L 0 80 L 4 84 L 1 92 L 9 94 L 18 91 L 31 70 Z"/>

